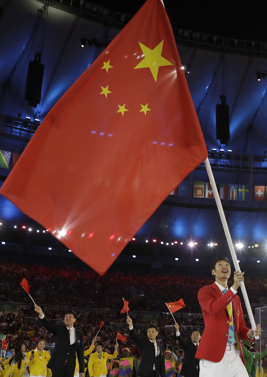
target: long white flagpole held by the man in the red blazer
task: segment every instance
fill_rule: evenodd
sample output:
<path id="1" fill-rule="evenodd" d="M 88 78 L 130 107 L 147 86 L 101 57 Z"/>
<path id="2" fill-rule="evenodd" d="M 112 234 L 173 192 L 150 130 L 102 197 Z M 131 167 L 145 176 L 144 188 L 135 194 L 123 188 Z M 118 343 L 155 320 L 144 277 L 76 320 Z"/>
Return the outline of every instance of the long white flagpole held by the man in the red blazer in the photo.
<path id="1" fill-rule="evenodd" d="M 211 183 L 211 188 L 212 188 L 212 191 L 213 191 L 213 194 L 214 194 L 214 198 L 215 198 L 215 201 L 216 201 L 216 204 L 217 204 L 217 207 L 218 207 L 221 222 L 223 224 L 223 229 L 225 231 L 225 235 L 226 235 L 228 246 L 229 246 L 229 249 L 230 249 L 230 252 L 231 252 L 231 256 L 232 256 L 232 259 L 233 259 L 233 262 L 234 262 L 235 270 L 236 271 L 239 270 L 241 272 L 240 267 L 239 267 L 239 263 L 238 263 L 238 260 L 237 260 L 237 256 L 235 254 L 235 249 L 234 249 L 233 241 L 232 241 L 232 238 L 231 238 L 231 234 L 230 234 L 230 231 L 229 231 L 229 228 L 228 228 L 228 224 L 226 222 L 225 213 L 223 211 L 223 206 L 221 205 L 220 195 L 218 193 L 218 189 L 217 189 L 217 186 L 216 186 L 216 183 L 215 183 L 215 180 L 214 180 L 214 176 L 213 176 L 213 173 L 212 173 L 212 170 L 211 170 L 211 164 L 209 163 L 208 157 L 205 159 L 205 166 L 206 166 L 206 170 L 207 170 L 207 173 L 208 173 L 208 176 L 209 176 L 209 182 Z M 246 291 L 246 287 L 245 287 L 244 282 L 242 282 L 242 281 L 240 282 L 240 287 L 241 287 L 241 291 L 242 291 L 242 294 L 243 294 L 243 297 L 244 297 L 244 302 L 246 304 L 247 314 L 249 315 L 249 320 L 250 320 L 251 326 L 253 328 L 253 331 L 255 331 L 256 330 L 256 323 L 255 323 L 255 320 L 254 320 L 254 317 L 253 317 L 253 314 L 252 314 L 252 310 L 251 310 L 250 303 L 249 303 L 249 297 L 247 296 L 247 291 Z M 255 336 L 255 339 L 259 339 L 259 336 Z"/>

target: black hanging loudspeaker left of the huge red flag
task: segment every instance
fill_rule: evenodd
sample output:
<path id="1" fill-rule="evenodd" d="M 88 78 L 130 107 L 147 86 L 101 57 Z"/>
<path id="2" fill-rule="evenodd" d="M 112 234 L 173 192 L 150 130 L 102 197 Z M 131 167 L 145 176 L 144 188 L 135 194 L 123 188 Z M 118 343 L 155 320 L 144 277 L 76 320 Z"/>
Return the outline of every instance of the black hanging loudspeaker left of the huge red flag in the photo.
<path id="1" fill-rule="evenodd" d="M 44 64 L 41 64 L 41 56 L 36 52 L 34 61 L 30 61 L 26 80 L 26 89 L 24 99 L 28 101 L 28 105 L 37 107 L 41 101 L 42 78 L 44 76 Z"/>

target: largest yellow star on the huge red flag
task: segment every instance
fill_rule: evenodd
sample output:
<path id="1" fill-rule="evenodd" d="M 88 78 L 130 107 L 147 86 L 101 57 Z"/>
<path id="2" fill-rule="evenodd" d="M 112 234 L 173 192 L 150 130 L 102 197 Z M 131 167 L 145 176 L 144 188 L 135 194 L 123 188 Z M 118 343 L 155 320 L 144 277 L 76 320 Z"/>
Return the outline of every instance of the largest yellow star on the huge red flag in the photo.
<path id="1" fill-rule="evenodd" d="M 163 41 L 158 44 L 153 50 L 140 43 L 140 47 L 144 54 L 144 59 L 137 64 L 135 68 L 149 68 L 155 81 L 157 81 L 158 70 L 161 66 L 173 66 L 173 63 L 161 56 Z"/>

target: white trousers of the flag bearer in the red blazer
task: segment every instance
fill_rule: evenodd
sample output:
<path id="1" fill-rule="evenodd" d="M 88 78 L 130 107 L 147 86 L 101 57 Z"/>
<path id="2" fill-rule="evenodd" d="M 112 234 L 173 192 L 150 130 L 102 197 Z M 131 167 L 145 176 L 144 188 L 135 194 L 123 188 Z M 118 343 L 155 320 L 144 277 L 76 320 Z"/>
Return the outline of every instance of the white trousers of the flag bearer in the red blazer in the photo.
<path id="1" fill-rule="evenodd" d="M 225 351 L 218 363 L 200 359 L 199 377 L 248 377 L 240 355 L 240 351 L 232 348 L 230 351 Z"/>

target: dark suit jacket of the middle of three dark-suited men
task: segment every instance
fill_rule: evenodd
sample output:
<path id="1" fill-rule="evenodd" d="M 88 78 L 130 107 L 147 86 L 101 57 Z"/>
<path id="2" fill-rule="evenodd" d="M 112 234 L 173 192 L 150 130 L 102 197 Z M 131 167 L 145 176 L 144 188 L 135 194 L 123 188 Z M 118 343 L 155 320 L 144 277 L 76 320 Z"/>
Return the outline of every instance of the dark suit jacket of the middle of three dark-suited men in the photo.
<path id="1" fill-rule="evenodd" d="M 150 340 L 144 336 L 139 336 L 134 329 L 130 330 L 133 341 L 138 345 L 141 352 L 141 362 L 138 367 L 138 375 L 149 376 L 153 372 L 155 364 L 156 377 L 166 377 L 164 347 L 158 343 L 161 353 L 155 356 L 155 346 Z"/>

